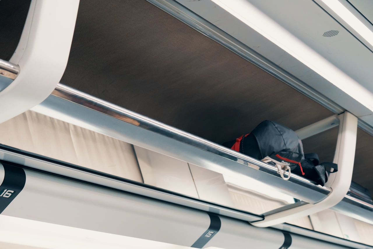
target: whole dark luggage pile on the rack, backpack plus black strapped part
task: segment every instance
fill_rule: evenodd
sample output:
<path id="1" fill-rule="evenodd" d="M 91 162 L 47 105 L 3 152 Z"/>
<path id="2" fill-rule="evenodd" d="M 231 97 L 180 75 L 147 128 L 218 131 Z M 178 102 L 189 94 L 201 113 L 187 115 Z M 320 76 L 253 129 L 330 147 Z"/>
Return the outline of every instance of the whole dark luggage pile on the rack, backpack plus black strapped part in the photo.
<path id="1" fill-rule="evenodd" d="M 303 145 L 297 133 L 269 120 L 258 124 L 252 132 L 223 145 L 275 165 L 285 180 L 290 178 L 292 172 L 324 186 L 329 174 L 338 170 L 335 163 L 320 163 L 316 153 L 304 155 Z M 288 169 L 287 177 L 283 176 L 282 168 Z"/>

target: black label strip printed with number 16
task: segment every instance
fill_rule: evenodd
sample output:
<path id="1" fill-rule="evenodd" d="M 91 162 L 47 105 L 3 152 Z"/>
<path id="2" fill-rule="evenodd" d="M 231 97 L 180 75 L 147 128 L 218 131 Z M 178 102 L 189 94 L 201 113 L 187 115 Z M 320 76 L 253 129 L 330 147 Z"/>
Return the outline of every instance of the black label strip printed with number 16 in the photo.
<path id="1" fill-rule="evenodd" d="M 4 181 L 0 185 L 0 213 L 16 198 L 26 183 L 26 174 L 22 168 L 2 163 Z"/>

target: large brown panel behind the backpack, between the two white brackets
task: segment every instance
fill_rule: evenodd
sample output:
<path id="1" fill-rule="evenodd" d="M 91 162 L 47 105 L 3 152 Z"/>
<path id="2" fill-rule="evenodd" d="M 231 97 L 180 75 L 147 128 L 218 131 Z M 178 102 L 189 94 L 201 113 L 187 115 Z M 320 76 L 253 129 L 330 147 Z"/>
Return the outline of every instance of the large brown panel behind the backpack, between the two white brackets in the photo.
<path id="1" fill-rule="evenodd" d="M 82 0 L 61 82 L 217 143 L 332 115 L 145 0 Z"/>

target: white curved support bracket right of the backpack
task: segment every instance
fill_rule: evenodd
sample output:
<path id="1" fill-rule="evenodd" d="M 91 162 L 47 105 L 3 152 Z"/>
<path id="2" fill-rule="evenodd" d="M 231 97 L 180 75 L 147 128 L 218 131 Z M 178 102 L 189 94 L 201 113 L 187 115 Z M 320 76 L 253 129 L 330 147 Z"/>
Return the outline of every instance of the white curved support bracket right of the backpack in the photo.
<path id="1" fill-rule="evenodd" d="M 251 222 L 252 225 L 270 227 L 281 224 L 328 209 L 344 198 L 350 188 L 352 169 L 354 167 L 357 117 L 345 111 L 338 115 L 337 118 L 339 119 L 339 132 L 333 162 L 338 164 L 338 172 L 330 175 L 326 183 L 326 186 L 332 189 L 331 193 L 318 203 L 307 203 L 266 215 L 262 221 Z"/>

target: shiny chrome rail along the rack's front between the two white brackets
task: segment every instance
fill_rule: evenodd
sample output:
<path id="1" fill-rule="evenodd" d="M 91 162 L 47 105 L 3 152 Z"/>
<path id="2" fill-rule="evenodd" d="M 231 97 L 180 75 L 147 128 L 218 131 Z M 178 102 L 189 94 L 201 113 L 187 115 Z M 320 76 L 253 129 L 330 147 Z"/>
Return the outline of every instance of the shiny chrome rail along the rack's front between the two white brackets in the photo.
<path id="1" fill-rule="evenodd" d="M 242 153 L 238 153 L 237 151 L 233 151 L 229 148 L 223 147 L 222 145 L 216 144 L 209 140 L 200 138 L 191 133 L 185 132 L 183 130 L 179 130 L 175 127 L 161 123 L 154 119 L 150 119 L 141 114 L 127 110 L 123 107 L 119 107 L 117 105 L 106 102 L 102 99 L 98 99 L 94 96 L 88 95 L 87 93 L 73 89 L 72 87 L 65 86 L 63 84 L 57 84 L 57 87 L 52 92 L 52 95 L 65 99 L 67 101 L 73 102 L 75 104 L 88 107 L 92 110 L 98 111 L 100 113 L 106 114 L 110 117 L 114 117 L 124 122 L 133 124 L 135 126 L 144 128 L 151 132 L 158 133 L 160 135 L 166 136 L 167 138 L 174 139 L 184 144 L 213 153 L 216 156 L 220 156 L 224 159 L 233 160 L 246 167 L 251 167 L 261 172 L 265 172 L 270 175 L 279 177 L 279 174 L 277 173 L 277 168 L 273 165 L 269 165 L 268 163 L 261 162 L 260 160 L 256 160 Z M 199 166 L 202 166 L 202 165 L 199 165 Z M 287 175 L 286 172 L 284 174 Z M 288 181 L 294 182 L 301 186 L 307 187 L 308 189 L 315 190 L 319 193 L 322 193 L 325 195 L 325 197 L 330 193 L 330 188 L 322 187 L 320 185 L 315 185 L 310 180 L 305 179 L 295 174 L 291 174 L 290 179 Z"/>

